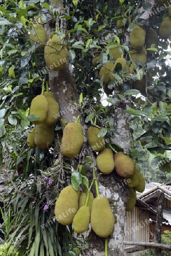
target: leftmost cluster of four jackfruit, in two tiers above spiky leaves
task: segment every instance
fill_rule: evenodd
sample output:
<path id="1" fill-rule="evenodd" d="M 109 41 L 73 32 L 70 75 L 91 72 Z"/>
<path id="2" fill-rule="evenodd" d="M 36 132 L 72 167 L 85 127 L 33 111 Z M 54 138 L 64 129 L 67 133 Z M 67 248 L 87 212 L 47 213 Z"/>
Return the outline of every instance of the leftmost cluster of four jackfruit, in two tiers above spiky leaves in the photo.
<path id="1" fill-rule="evenodd" d="M 33 98 L 30 114 L 36 115 L 39 120 L 32 121 L 36 126 L 27 136 L 28 147 L 48 148 L 53 143 L 54 125 L 59 119 L 59 104 L 53 93 L 44 92 L 44 95 Z"/>

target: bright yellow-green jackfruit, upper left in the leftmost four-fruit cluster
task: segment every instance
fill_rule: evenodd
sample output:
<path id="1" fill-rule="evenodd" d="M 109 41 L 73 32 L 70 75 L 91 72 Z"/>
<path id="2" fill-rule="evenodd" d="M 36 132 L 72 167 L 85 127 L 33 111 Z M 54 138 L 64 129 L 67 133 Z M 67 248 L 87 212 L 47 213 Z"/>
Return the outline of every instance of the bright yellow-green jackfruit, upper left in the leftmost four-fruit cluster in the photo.
<path id="1" fill-rule="evenodd" d="M 31 122 L 35 123 L 35 125 L 39 125 L 40 123 L 43 123 L 47 118 L 47 113 L 48 113 L 47 99 L 44 97 L 44 95 L 37 95 L 31 101 L 30 114 L 37 115 L 37 117 L 39 117 L 39 120 L 31 121 Z"/>

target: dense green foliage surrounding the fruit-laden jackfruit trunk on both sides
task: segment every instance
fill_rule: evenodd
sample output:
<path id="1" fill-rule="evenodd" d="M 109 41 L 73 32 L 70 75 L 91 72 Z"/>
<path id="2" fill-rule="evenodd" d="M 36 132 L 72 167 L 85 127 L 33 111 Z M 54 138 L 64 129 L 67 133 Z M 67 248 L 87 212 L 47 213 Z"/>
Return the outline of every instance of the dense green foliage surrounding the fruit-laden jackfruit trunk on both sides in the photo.
<path id="1" fill-rule="evenodd" d="M 32 20 L 36 15 L 41 16 L 46 24 L 50 22 L 47 13 L 51 14 L 52 27 L 56 27 L 57 35 L 66 40 L 69 62 L 73 64 L 74 79 L 80 94 L 78 102 L 87 125 L 90 125 L 91 120 L 97 119 L 97 124 L 103 127 L 101 136 L 106 135 L 110 139 L 117 133 L 114 118 L 116 100 L 124 104 L 124 97 L 132 96 L 126 110 L 132 118 L 131 156 L 135 160 L 140 156 L 143 159 L 149 158 L 149 152 L 155 156 L 152 159 L 152 166 L 155 168 L 148 170 L 146 160 L 143 160 L 146 166 L 139 165 L 143 175 L 149 177 L 148 182 L 159 181 L 159 172 L 156 171 L 159 167 L 160 182 L 170 179 L 170 175 L 166 179 L 163 177 L 170 172 L 170 41 L 160 40 L 158 50 L 153 49 L 148 53 L 147 65 L 137 61 L 135 74 L 123 74 L 118 66 L 118 72 L 109 84 L 115 88 L 115 95 L 106 96 L 103 81 L 98 76 L 102 65 L 111 59 L 111 47 L 121 46 L 120 53 L 126 57 L 127 64 L 131 64 L 130 43 L 125 42 L 124 38 L 124 33 L 128 30 L 127 18 L 123 19 L 120 29 L 117 29 L 116 22 L 127 13 L 131 19 L 130 29 L 135 24 L 151 25 L 151 20 L 140 19 L 138 10 L 142 5 L 145 9 L 150 7 L 143 1 L 135 3 L 132 0 L 115 1 L 115 4 L 112 0 L 69 0 L 64 1 L 65 11 L 60 16 L 53 5 L 44 0 L 5 0 L 1 3 L 0 163 L 7 170 L 12 170 L 12 180 L 19 192 L 9 181 L 5 194 L 8 203 L 3 210 L 7 212 L 11 205 L 11 215 L 5 219 L 5 222 L 8 220 L 8 228 L 5 229 L 3 225 L 1 227 L 8 251 L 12 245 L 19 256 L 61 256 L 74 255 L 73 251 L 77 253 L 78 249 L 87 246 L 85 241 L 81 242 L 73 237 L 70 226 L 62 226 L 53 220 L 56 197 L 72 175 L 69 160 L 63 159 L 61 155 L 60 122 L 56 124 L 55 140 L 49 150 L 28 148 L 26 143 L 28 131 L 32 128 L 29 115 L 31 100 L 41 93 L 42 85 L 48 80 L 44 51 L 36 51 L 38 45 L 31 45 L 29 40 Z M 162 16 L 166 16 L 167 11 L 165 9 L 156 14 L 152 20 L 152 28 L 157 33 Z M 66 35 L 57 26 L 59 19 L 66 19 Z M 97 67 L 91 64 L 95 54 L 99 55 Z M 132 88 L 132 82 L 140 79 L 147 71 L 151 74 L 146 88 L 148 95 L 141 92 L 144 96 L 142 98 L 139 90 Z M 125 80 L 126 76 L 129 81 Z M 121 84 L 119 88 L 115 86 L 118 82 Z M 104 97 L 109 103 L 107 106 L 101 103 Z M 137 127 L 139 133 L 136 133 Z M 120 149 L 116 144 L 110 144 L 110 148 L 114 151 Z M 3 158 L 5 155 L 6 161 Z M 151 175 L 153 170 L 156 176 Z M 79 175 L 74 172 L 72 177 L 79 184 L 82 180 L 86 183 L 85 174 Z M 50 224 L 48 221 L 51 221 Z"/>

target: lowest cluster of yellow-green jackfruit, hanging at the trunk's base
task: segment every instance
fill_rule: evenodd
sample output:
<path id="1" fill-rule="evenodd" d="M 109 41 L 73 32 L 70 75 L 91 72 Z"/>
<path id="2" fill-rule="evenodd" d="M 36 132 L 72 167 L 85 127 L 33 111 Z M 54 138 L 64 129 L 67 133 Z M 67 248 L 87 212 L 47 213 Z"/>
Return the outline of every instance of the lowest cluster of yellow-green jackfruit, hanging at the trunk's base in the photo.
<path id="1" fill-rule="evenodd" d="M 72 185 L 61 190 L 55 204 L 55 217 L 62 225 L 72 224 L 78 234 L 86 232 L 89 224 L 99 237 L 106 238 L 114 230 L 115 218 L 107 198 L 94 199 L 91 191 L 76 191 Z"/>

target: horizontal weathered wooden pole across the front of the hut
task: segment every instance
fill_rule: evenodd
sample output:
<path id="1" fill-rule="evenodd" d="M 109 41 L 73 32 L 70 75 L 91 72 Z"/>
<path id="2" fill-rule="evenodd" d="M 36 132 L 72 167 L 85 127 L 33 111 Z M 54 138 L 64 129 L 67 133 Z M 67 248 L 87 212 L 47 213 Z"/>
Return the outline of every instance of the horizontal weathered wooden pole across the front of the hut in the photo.
<path id="1" fill-rule="evenodd" d="M 124 249 L 126 253 L 134 253 L 134 251 L 141 251 L 146 249 L 160 248 L 162 250 L 171 251 L 171 245 L 164 245 L 162 243 L 145 243 L 145 242 L 124 242 L 124 245 L 135 245 Z M 161 256 L 161 254 L 160 254 Z"/>

